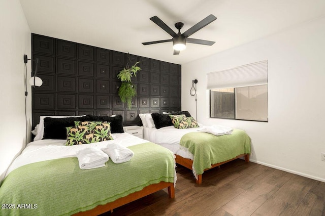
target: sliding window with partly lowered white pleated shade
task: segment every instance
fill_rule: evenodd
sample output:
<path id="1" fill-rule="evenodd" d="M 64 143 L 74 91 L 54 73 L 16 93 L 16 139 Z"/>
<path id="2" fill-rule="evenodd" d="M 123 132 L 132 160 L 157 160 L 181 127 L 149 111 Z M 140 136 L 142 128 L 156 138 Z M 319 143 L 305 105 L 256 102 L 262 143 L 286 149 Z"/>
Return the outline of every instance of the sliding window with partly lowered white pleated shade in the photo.
<path id="1" fill-rule="evenodd" d="M 210 117 L 268 121 L 268 62 L 207 75 Z"/>

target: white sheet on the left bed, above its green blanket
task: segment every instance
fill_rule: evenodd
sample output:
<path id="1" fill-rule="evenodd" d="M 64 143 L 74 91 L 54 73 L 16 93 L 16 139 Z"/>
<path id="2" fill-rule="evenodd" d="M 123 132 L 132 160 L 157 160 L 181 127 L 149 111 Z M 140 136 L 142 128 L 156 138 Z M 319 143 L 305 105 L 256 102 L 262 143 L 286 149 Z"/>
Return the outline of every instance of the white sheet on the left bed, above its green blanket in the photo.
<path id="1" fill-rule="evenodd" d="M 38 140 L 30 142 L 9 166 L 6 176 L 8 176 L 12 170 L 29 163 L 58 158 L 76 157 L 77 151 L 88 147 L 105 148 L 109 143 L 116 143 L 128 147 L 148 142 L 127 133 L 112 134 L 112 136 L 114 140 L 74 146 L 64 145 L 66 140 Z"/>

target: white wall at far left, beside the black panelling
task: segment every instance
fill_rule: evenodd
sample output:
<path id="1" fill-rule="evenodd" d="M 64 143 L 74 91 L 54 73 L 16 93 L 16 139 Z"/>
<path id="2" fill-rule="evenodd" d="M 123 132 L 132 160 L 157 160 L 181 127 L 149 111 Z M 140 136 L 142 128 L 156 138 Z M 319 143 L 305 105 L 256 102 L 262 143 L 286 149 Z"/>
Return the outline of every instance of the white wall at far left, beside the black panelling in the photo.
<path id="1" fill-rule="evenodd" d="M 12 160 L 25 146 L 25 65 L 31 57 L 30 30 L 19 0 L 0 1 L 0 182 Z M 28 61 L 30 77 L 30 63 Z M 31 102 L 28 86 L 27 116 Z M 30 134 L 30 126 L 28 128 Z M 30 138 L 27 138 L 30 139 Z"/>

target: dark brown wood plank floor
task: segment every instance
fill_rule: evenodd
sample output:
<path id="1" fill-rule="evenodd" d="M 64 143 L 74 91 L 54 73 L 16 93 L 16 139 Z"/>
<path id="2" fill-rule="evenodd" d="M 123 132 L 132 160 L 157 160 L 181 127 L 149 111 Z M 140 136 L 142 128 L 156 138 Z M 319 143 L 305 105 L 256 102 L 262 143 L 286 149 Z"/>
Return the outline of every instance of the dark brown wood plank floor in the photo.
<path id="1" fill-rule="evenodd" d="M 167 190 L 103 215 L 325 215 L 325 183 L 241 159 L 206 171 L 197 186 L 178 165 L 175 199 Z"/>

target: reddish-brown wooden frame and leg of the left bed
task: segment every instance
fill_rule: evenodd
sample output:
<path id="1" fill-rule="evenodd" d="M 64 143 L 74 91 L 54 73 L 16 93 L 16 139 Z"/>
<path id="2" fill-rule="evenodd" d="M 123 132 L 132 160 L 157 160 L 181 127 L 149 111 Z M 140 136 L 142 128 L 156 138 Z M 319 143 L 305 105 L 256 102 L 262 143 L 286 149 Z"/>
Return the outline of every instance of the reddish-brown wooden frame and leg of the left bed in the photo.
<path id="1" fill-rule="evenodd" d="M 168 196 L 169 198 L 174 198 L 175 197 L 175 188 L 174 188 L 174 183 L 169 183 L 169 182 L 160 182 L 157 184 L 152 184 L 141 191 L 134 192 L 132 194 L 129 194 L 125 197 L 121 197 L 114 202 L 109 202 L 105 205 L 98 205 L 95 208 L 88 210 L 88 211 L 80 211 L 76 214 L 73 215 L 99 215 L 101 213 L 105 213 L 107 211 L 113 211 L 114 208 L 120 207 L 122 205 L 125 205 L 129 202 L 133 202 L 137 199 L 140 199 L 142 197 L 145 197 L 149 194 L 152 194 L 154 192 L 157 192 L 161 189 L 168 188 Z"/>

